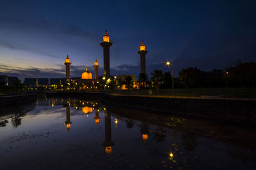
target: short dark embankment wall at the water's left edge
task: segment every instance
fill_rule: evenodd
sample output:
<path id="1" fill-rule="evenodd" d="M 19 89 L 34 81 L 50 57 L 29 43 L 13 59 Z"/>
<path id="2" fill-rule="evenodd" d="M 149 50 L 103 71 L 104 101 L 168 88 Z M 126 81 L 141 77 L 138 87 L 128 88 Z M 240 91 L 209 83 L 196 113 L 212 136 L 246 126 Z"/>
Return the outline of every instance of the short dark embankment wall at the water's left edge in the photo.
<path id="1" fill-rule="evenodd" d="M 0 106 L 17 105 L 36 101 L 36 94 L 12 94 L 10 96 L 0 96 Z"/>

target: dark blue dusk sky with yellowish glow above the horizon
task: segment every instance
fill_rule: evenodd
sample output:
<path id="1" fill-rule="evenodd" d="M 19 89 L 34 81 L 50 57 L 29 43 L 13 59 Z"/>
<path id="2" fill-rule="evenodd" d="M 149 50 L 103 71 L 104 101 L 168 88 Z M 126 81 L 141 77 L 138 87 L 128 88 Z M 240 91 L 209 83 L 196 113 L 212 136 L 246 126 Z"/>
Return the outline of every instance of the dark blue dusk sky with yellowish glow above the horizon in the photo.
<path id="1" fill-rule="evenodd" d="M 256 61 L 256 1 L 3 1 L 0 4 L 0 74 L 65 78 L 103 73 L 99 43 L 110 41 L 111 74 L 140 73 L 144 41 L 147 73 L 182 67 L 224 69 L 237 59 Z"/>

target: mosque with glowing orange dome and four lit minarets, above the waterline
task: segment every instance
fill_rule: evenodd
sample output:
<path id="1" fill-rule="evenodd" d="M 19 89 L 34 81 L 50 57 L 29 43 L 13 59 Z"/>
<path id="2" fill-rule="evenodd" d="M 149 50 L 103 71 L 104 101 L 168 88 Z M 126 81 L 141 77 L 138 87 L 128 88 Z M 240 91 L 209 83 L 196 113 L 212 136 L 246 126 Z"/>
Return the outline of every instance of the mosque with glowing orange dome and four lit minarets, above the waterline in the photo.
<path id="1" fill-rule="evenodd" d="M 109 78 L 111 78 L 111 74 L 110 74 L 110 66 L 109 66 L 109 48 L 113 43 L 109 42 L 109 35 L 108 32 L 105 31 L 104 36 L 103 36 L 103 42 L 100 43 L 100 46 L 102 46 L 103 48 L 103 59 L 104 59 L 104 64 L 103 64 L 103 76 L 102 76 L 102 80 L 109 80 Z M 145 50 L 145 45 L 143 43 L 143 41 L 141 41 L 141 45 L 140 45 L 140 51 L 138 52 L 140 54 L 140 66 L 141 66 L 141 73 L 146 73 L 146 61 L 145 61 L 145 55 L 147 53 L 147 51 Z M 68 84 L 73 83 L 73 84 L 79 84 L 79 85 L 83 85 L 83 89 L 87 89 L 87 88 L 92 88 L 94 81 L 97 80 L 99 81 L 99 63 L 97 61 L 97 59 L 95 59 L 93 68 L 94 68 L 94 80 L 92 78 L 92 73 L 90 73 L 87 68 L 86 71 L 84 71 L 81 74 L 81 77 L 74 77 L 74 78 L 70 78 L 70 59 L 67 55 L 66 58 L 66 62 L 64 62 L 65 66 L 66 66 L 66 81 Z"/>

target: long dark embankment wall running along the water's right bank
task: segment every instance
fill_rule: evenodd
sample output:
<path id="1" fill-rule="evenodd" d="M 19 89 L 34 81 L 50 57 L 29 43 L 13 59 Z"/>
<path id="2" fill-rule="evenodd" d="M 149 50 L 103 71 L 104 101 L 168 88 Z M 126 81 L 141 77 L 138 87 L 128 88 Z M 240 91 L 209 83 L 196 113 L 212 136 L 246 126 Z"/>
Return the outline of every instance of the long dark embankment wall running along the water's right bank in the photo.
<path id="1" fill-rule="evenodd" d="M 97 99 L 106 103 L 107 106 L 114 104 L 127 108 L 155 111 L 156 113 L 207 118 L 217 122 L 256 125 L 255 100 L 121 96 L 89 92 L 48 93 L 47 97 L 86 97 Z"/>

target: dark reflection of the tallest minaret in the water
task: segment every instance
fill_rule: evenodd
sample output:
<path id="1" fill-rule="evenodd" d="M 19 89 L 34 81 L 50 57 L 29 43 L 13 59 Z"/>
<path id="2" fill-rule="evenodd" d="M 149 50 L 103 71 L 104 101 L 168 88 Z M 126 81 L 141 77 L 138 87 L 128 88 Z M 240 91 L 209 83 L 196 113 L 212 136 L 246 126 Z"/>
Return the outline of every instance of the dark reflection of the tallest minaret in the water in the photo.
<path id="1" fill-rule="evenodd" d="M 114 145 L 113 141 L 111 141 L 111 114 L 108 111 L 104 110 L 105 113 L 105 141 L 103 146 L 105 146 L 105 152 L 111 153 L 112 146 Z"/>

